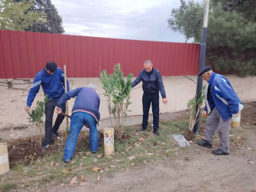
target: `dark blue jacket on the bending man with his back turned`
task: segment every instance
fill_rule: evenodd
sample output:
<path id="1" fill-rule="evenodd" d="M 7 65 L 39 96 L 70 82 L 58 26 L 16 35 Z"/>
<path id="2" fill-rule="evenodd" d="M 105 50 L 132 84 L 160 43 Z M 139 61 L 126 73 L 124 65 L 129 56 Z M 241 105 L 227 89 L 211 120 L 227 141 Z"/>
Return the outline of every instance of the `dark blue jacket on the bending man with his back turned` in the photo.
<path id="1" fill-rule="evenodd" d="M 76 98 L 75 98 L 76 97 Z M 58 100 L 57 107 L 63 108 L 65 102 L 71 98 L 75 98 L 75 104 L 72 113 L 77 111 L 86 112 L 95 117 L 96 121 L 100 120 L 99 105 L 100 98 L 93 88 L 76 88 L 72 91 L 65 92 L 62 98 Z"/>

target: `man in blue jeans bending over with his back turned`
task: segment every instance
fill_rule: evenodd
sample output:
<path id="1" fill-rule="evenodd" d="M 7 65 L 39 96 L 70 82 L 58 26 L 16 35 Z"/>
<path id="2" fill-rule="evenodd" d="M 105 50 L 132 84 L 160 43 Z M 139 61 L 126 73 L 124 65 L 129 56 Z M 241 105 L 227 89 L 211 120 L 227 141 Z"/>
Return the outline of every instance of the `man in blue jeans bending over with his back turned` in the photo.
<path id="1" fill-rule="evenodd" d="M 88 88 L 76 88 L 63 94 L 62 98 L 58 101 L 56 113 L 59 114 L 62 112 L 62 109 L 65 108 L 65 102 L 70 98 L 75 98 L 75 104 L 72 108 L 70 129 L 63 156 L 63 160 L 66 163 L 74 155 L 78 135 L 84 125 L 90 129 L 90 147 L 92 153 L 98 150 L 98 131 L 96 124 L 98 124 L 100 119 L 100 113 L 98 111 L 100 98 L 93 85 L 89 85 Z"/>

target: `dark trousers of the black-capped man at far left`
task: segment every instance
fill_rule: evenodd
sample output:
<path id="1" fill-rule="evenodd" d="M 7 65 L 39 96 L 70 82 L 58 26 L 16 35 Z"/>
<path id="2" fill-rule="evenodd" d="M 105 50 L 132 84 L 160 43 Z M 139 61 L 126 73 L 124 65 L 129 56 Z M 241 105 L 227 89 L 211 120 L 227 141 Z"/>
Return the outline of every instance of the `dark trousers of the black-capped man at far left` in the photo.
<path id="1" fill-rule="evenodd" d="M 64 115 L 58 114 L 55 125 L 52 127 L 52 118 L 53 113 L 55 111 L 55 106 L 57 105 L 58 100 L 50 100 L 47 104 L 45 104 L 45 143 L 51 144 L 52 142 L 52 133 L 56 133 L 58 131 L 58 127 L 62 124 Z M 62 109 L 62 112 L 65 113 L 66 105 Z"/>

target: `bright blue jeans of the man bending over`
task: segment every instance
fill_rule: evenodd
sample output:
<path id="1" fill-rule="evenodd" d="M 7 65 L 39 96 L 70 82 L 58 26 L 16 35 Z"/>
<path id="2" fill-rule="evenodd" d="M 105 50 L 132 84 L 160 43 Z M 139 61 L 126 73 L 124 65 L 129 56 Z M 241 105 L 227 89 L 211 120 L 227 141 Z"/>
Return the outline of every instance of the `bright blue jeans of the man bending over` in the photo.
<path id="1" fill-rule="evenodd" d="M 75 112 L 71 115 L 71 123 L 69 128 L 69 134 L 65 145 L 65 151 L 63 159 L 70 161 L 74 156 L 75 146 L 78 141 L 81 128 L 87 124 L 90 129 L 90 147 L 92 152 L 98 150 L 98 130 L 96 127 L 97 121 L 95 118 L 85 112 Z"/>

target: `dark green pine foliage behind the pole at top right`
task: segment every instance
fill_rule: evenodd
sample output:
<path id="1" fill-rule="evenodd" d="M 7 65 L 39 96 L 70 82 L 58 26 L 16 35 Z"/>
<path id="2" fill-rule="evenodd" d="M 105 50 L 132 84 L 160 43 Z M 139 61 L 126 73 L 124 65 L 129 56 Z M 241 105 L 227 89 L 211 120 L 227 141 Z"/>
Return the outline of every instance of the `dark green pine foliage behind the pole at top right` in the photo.
<path id="1" fill-rule="evenodd" d="M 221 73 L 256 74 L 256 12 L 254 0 L 211 0 L 206 63 Z M 174 8 L 170 28 L 201 41 L 204 3 L 185 2 Z"/>

